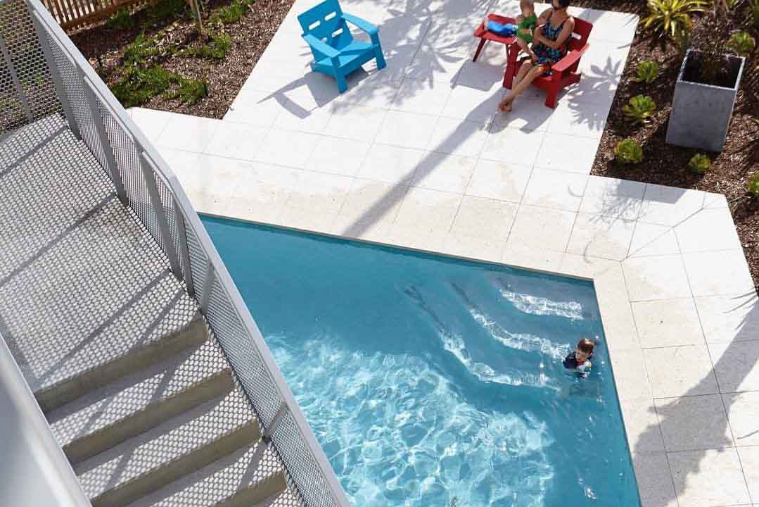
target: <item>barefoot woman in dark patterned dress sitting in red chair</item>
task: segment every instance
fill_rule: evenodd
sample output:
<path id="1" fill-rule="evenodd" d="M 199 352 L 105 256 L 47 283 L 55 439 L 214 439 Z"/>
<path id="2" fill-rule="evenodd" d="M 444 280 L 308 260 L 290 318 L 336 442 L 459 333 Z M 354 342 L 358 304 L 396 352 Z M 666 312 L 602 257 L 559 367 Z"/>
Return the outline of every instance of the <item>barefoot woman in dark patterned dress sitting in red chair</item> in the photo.
<path id="1" fill-rule="evenodd" d="M 535 58 L 524 62 L 519 68 L 512 89 L 498 104 L 500 111 L 511 111 L 514 99 L 540 74 L 550 74 L 551 65 L 566 55 L 567 41 L 575 31 L 575 18 L 567 12 L 570 2 L 571 0 L 553 0 L 552 8 L 540 14 L 533 36 L 532 51 Z"/>

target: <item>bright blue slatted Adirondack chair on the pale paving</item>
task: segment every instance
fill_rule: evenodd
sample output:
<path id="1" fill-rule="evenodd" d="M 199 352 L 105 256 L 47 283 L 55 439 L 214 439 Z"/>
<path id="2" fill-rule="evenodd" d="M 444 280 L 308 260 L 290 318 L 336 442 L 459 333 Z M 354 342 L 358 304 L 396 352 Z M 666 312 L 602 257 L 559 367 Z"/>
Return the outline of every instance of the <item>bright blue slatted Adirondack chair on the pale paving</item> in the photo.
<path id="1" fill-rule="evenodd" d="M 348 23 L 368 33 L 371 43 L 354 40 Z M 311 69 L 335 78 L 338 90 L 348 90 L 345 76 L 376 58 L 377 68 L 385 68 L 379 29 L 373 24 L 343 12 L 337 0 L 326 0 L 298 16 L 303 38 L 311 47 Z"/>

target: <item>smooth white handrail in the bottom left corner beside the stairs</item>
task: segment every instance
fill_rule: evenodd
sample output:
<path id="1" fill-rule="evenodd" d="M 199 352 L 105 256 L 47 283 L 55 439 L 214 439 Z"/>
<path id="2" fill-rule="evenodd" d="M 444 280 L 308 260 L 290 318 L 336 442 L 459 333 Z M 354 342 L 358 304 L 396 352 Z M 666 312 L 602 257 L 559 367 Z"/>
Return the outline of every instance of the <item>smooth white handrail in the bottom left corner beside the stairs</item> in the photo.
<path id="1" fill-rule="evenodd" d="M 30 470 L 26 468 L 28 466 L 32 466 L 32 471 L 36 472 L 33 477 L 30 477 L 36 487 L 30 490 L 16 484 L 15 486 L 19 486 L 17 491 L 2 494 L 4 505 L 8 507 L 22 507 L 22 505 L 24 507 L 27 505 L 92 507 L 77 476 L 74 475 L 74 470 L 71 469 L 71 464 L 52 434 L 45 414 L 39 409 L 39 404 L 34 399 L 24 379 L 24 374 L 13 359 L 8 345 L 5 344 L 2 334 L 0 334 L 0 403 L 3 404 L 0 407 L 0 420 L 3 418 L 17 420 L 17 424 L 2 424 L 5 442 L 0 444 L 0 448 L 4 450 L 0 470 L 3 471 L 3 477 L 8 479 L 11 475 L 10 467 L 17 474 L 29 473 Z M 20 432 L 14 429 L 20 429 Z M 20 447 L 29 452 L 25 453 L 23 458 L 18 458 L 16 453 L 8 452 L 6 445 L 13 445 L 14 449 Z"/>

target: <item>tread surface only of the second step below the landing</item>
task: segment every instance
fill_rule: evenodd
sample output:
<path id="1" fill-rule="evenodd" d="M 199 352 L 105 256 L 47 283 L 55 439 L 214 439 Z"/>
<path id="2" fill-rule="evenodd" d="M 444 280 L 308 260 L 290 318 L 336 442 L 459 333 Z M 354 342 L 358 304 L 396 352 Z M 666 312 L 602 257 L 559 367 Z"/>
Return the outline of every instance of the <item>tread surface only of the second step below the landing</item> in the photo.
<path id="1" fill-rule="evenodd" d="M 155 472 L 235 429 L 257 424 L 238 388 L 74 465 L 90 499 Z"/>

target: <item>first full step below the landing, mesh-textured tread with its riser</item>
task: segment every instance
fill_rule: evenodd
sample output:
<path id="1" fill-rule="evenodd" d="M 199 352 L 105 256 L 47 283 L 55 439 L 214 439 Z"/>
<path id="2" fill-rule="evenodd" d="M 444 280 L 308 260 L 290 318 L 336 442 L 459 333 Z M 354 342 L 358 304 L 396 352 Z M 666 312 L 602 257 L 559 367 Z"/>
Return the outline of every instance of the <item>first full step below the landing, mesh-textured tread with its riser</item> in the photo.
<path id="1" fill-rule="evenodd" d="M 50 411 L 50 427 L 77 463 L 224 395 L 232 375 L 212 340 Z"/>

